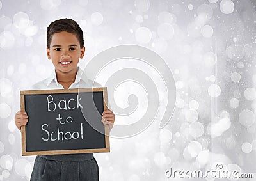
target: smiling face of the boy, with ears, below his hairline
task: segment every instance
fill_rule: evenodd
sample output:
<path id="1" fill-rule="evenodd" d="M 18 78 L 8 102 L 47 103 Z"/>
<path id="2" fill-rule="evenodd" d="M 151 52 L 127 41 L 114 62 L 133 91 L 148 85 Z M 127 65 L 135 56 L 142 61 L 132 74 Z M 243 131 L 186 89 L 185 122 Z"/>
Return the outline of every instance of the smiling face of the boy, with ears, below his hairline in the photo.
<path id="1" fill-rule="evenodd" d="M 84 56 L 85 48 L 80 47 L 76 35 L 61 31 L 52 35 L 50 47 L 47 47 L 48 59 L 52 60 L 56 74 L 77 72 L 77 64 Z"/>

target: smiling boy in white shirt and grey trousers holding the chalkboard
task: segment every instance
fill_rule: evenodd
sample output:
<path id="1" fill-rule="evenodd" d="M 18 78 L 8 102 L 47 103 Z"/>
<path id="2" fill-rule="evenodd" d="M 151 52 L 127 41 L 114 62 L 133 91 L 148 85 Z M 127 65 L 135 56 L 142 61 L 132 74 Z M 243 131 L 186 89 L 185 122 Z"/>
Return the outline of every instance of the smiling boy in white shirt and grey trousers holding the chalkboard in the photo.
<path id="1" fill-rule="evenodd" d="M 74 20 L 60 19 L 52 22 L 47 28 L 47 56 L 55 71 L 48 79 L 36 83 L 33 88 L 40 90 L 100 86 L 87 79 L 81 68 L 77 67 L 84 52 L 83 31 Z M 19 130 L 27 122 L 28 115 L 25 111 L 15 114 L 15 123 Z M 111 129 L 115 122 L 113 112 L 104 111 L 102 122 Z M 31 180 L 99 180 L 99 168 L 93 153 L 39 155 L 35 159 Z"/>

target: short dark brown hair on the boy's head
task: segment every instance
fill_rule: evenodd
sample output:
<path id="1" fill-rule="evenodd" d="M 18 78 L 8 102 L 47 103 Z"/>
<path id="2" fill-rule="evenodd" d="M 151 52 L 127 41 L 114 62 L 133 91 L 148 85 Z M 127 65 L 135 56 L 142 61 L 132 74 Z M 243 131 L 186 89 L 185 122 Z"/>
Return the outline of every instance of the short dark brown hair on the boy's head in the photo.
<path id="1" fill-rule="evenodd" d="M 67 31 L 68 33 L 74 33 L 77 36 L 77 40 L 80 43 L 80 47 L 84 46 L 84 35 L 80 26 L 76 21 L 72 19 L 58 19 L 51 22 L 47 27 L 47 47 L 50 48 L 52 42 L 52 35 L 54 33 L 60 33 L 61 31 Z"/>

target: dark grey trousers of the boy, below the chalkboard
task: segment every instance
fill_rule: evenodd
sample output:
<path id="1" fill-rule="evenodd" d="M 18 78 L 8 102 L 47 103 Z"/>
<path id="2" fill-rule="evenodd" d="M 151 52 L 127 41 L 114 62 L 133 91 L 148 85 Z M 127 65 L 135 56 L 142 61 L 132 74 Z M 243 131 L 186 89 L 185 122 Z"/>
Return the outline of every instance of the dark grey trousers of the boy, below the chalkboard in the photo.
<path id="1" fill-rule="evenodd" d="M 35 159 L 31 181 L 98 181 L 99 167 L 93 153 L 40 155 Z"/>

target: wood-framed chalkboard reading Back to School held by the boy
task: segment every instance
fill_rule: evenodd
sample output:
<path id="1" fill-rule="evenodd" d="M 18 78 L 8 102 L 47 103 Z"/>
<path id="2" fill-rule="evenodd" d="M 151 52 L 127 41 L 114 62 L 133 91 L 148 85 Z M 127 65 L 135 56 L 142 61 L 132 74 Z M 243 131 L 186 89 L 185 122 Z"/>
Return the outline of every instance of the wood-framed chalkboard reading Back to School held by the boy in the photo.
<path id="1" fill-rule="evenodd" d="M 20 91 L 22 155 L 109 152 L 106 88 Z"/>

